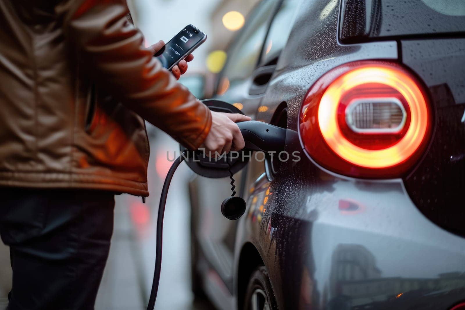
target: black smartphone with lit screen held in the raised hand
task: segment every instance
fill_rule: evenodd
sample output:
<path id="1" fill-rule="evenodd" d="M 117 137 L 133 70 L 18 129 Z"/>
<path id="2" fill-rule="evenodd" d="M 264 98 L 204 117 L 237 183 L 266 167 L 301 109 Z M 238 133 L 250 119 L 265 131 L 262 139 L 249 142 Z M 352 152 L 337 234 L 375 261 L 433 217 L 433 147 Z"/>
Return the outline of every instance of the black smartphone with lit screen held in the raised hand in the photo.
<path id="1" fill-rule="evenodd" d="M 173 66 L 179 64 L 179 61 L 185 59 L 205 40 L 205 33 L 192 25 L 187 25 L 153 56 L 157 57 L 162 65 L 171 71 Z"/>

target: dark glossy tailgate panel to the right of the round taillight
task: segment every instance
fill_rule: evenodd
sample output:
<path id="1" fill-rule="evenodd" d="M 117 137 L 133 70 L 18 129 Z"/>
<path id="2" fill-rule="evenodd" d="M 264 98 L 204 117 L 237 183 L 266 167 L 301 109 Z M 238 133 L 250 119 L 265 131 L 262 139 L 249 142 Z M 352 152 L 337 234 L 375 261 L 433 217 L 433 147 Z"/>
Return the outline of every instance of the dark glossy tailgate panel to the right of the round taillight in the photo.
<path id="1" fill-rule="evenodd" d="M 405 187 L 426 217 L 465 236 L 465 39 L 401 44 L 403 63 L 424 81 L 435 110 L 430 147 Z"/>

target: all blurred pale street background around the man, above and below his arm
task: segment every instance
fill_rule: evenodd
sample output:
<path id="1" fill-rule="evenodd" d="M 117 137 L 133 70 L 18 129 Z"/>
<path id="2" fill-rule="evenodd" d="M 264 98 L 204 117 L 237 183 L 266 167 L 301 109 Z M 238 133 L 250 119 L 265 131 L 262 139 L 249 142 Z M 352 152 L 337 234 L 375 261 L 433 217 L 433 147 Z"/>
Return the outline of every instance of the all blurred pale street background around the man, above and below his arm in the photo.
<path id="1" fill-rule="evenodd" d="M 179 80 L 196 97 L 208 98 L 223 68 L 226 47 L 240 31 L 257 0 L 128 0 L 134 23 L 146 46 L 168 42 L 192 24 L 208 39 L 194 52 L 187 73 Z M 257 43 L 259 44 L 259 42 Z M 161 186 L 179 145 L 164 132 L 147 124 L 151 157 L 148 168 L 150 197 L 116 196 L 115 225 L 110 255 L 95 309 L 145 309 L 155 262 L 155 225 Z M 179 154 L 179 152 L 178 152 Z M 155 309 L 214 309 L 193 300 L 191 290 L 190 205 L 187 181 L 191 171 L 183 164 L 176 171 L 168 195 L 163 242 L 163 264 Z M 228 182 L 229 183 L 229 182 Z M 0 243 L 0 309 L 7 306 L 11 288 L 8 248 Z"/>

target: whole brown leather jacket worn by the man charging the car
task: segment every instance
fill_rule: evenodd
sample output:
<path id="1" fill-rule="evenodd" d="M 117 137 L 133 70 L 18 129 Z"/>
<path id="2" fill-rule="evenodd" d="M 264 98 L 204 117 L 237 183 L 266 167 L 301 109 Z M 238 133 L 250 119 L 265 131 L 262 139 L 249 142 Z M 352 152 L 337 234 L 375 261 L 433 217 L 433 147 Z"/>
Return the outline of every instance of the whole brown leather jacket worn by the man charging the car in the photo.
<path id="1" fill-rule="evenodd" d="M 0 186 L 148 196 L 144 119 L 191 149 L 210 111 L 162 68 L 124 0 L 0 1 Z"/>

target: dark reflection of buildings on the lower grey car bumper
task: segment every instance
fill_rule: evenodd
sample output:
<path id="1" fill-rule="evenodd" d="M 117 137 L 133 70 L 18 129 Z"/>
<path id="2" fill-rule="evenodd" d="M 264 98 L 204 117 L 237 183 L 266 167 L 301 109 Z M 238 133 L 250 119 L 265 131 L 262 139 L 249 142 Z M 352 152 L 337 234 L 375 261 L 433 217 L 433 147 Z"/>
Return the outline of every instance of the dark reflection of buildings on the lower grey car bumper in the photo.
<path id="1" fill-rule="evenodd" d="M 427 303 L 429 297 L 465 293 L 465 273 L 460 271 L 437 278 L 382 277 L 375 256 L 359 244 L 338 244 L 331 261 L 330 309 L 398 309 L 413 297 Z"/>

